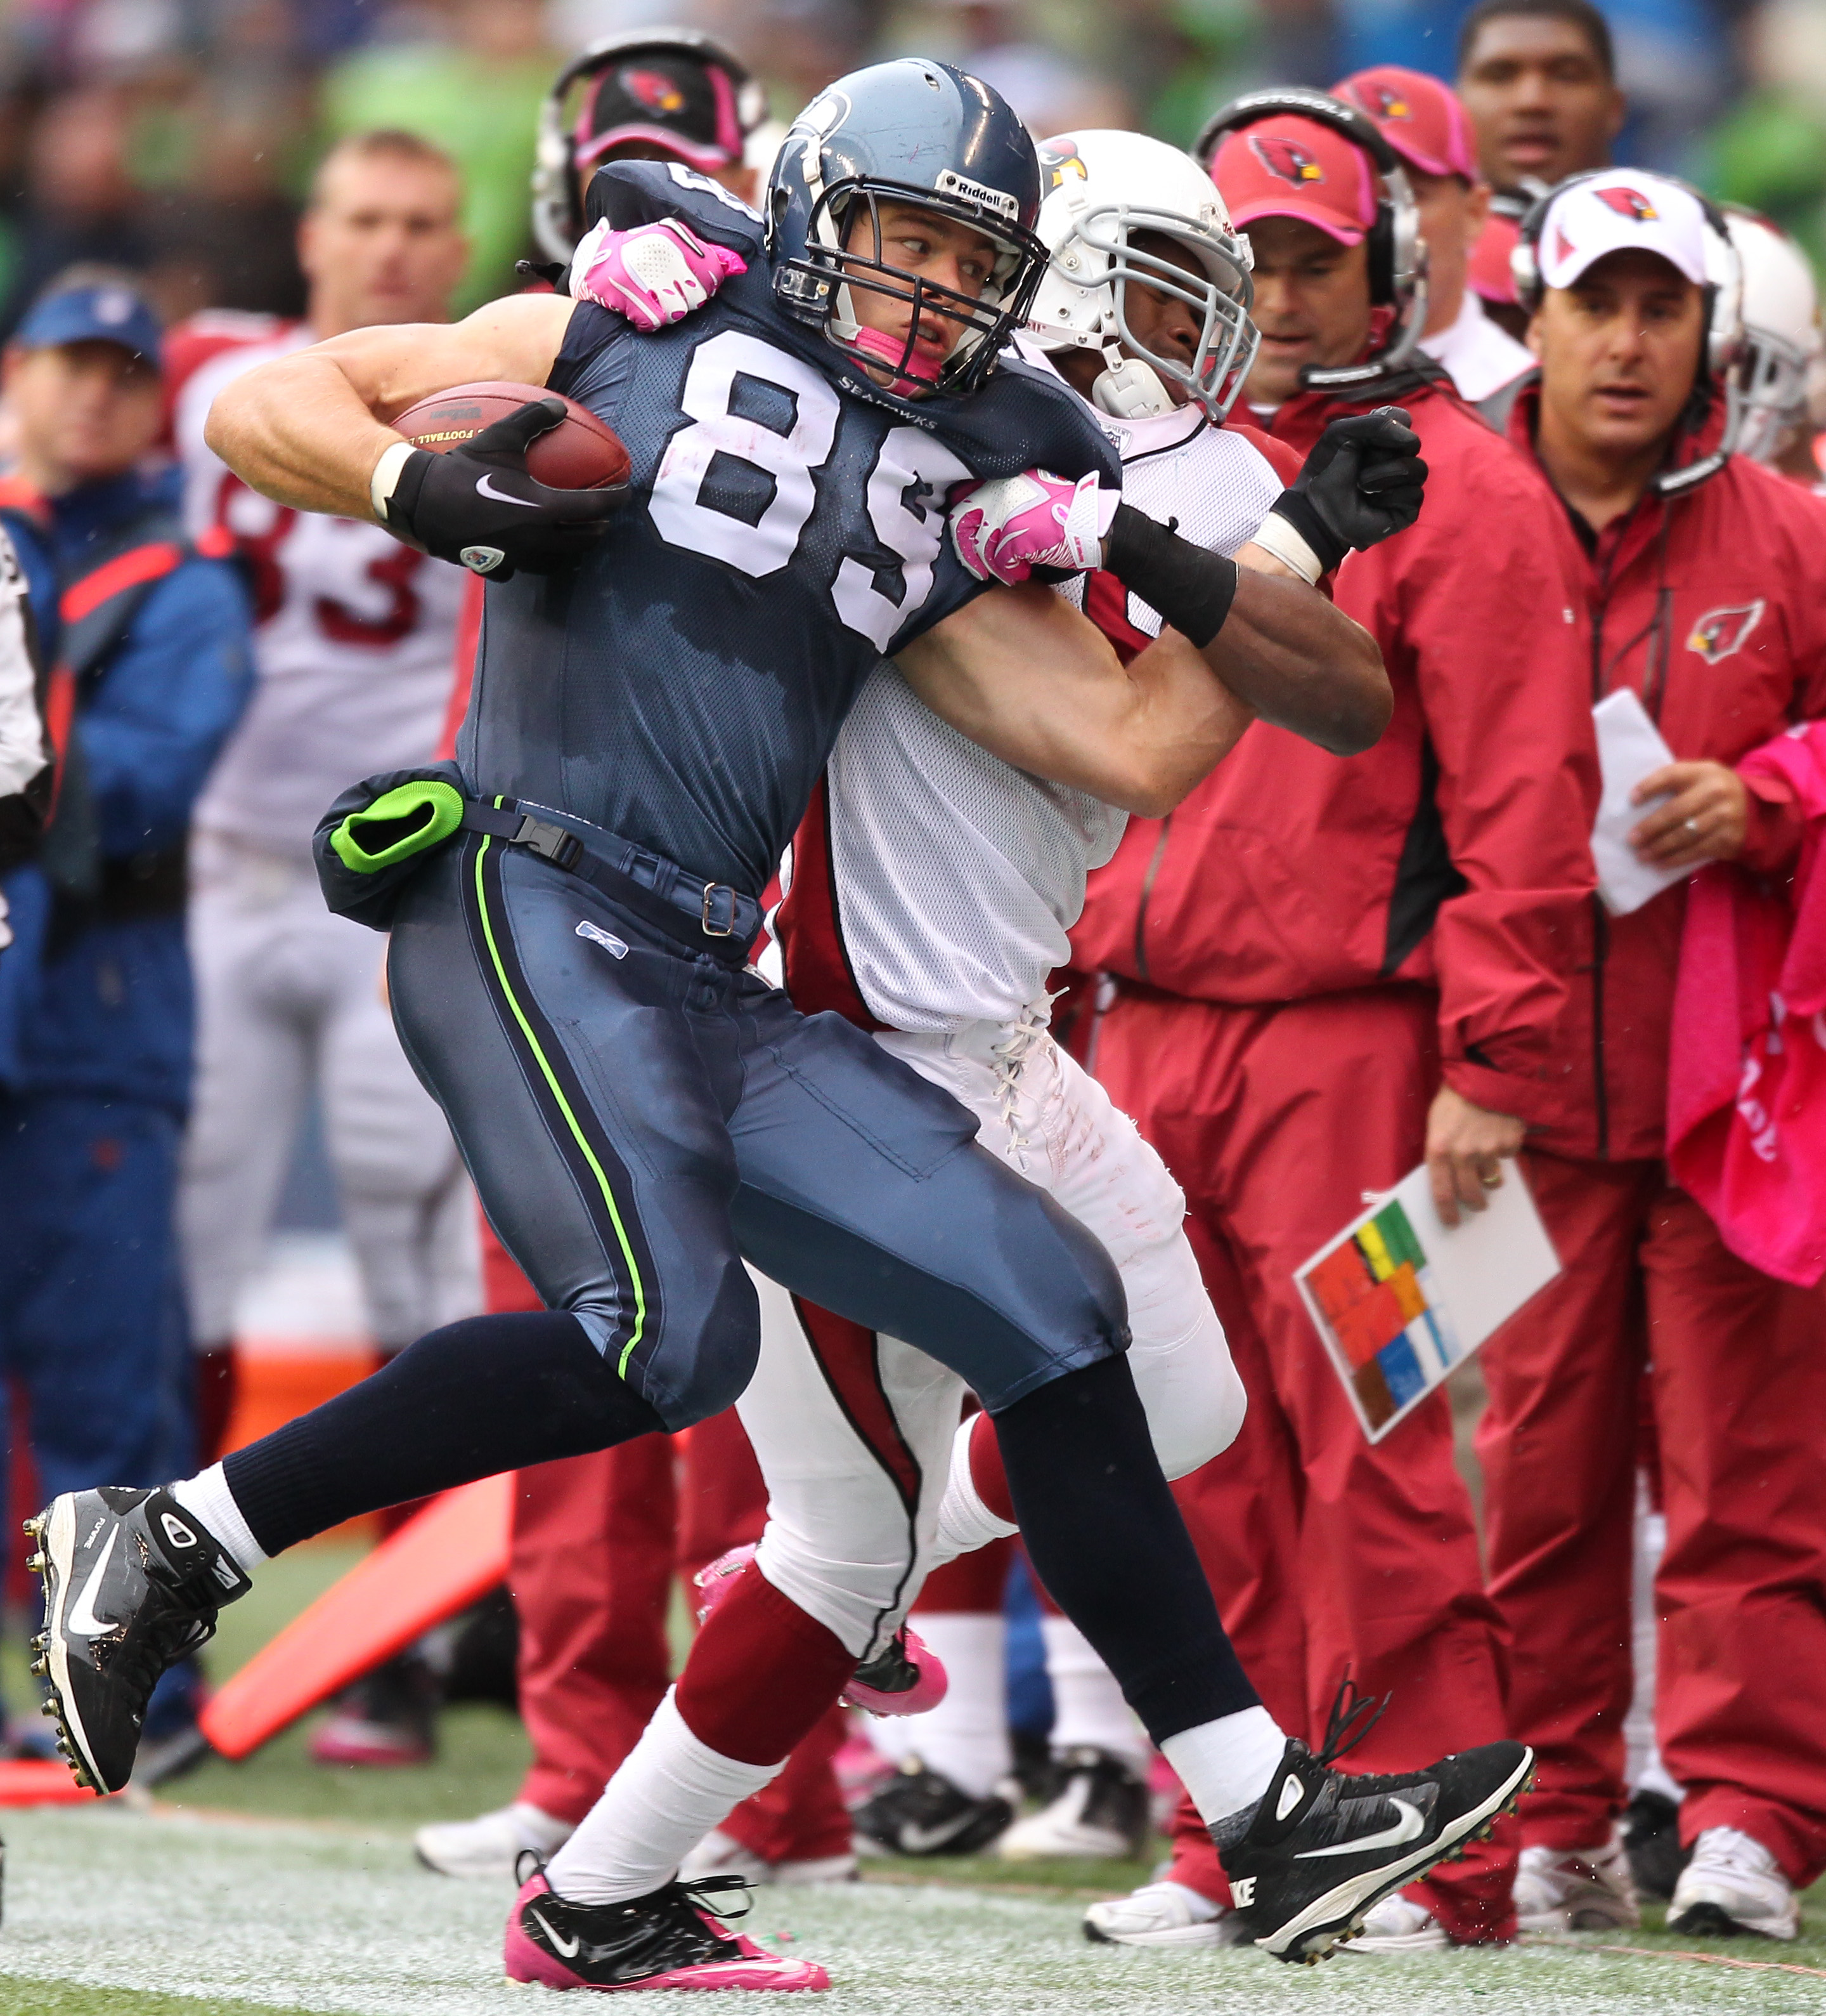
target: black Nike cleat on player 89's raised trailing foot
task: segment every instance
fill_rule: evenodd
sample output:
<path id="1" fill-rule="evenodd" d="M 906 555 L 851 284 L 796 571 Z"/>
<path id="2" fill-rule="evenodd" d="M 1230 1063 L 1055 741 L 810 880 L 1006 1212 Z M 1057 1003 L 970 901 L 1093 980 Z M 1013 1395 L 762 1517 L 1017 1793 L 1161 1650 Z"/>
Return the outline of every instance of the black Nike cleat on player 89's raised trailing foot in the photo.
<path id="1" fill-rule="evenodd" d="M 32 1665 L 77 1784 L 133 1776 L 145 1704 L 165 1667 L 216 1635 L 216 1611 L 252 1587 L 234 1556 L 165 1490 L 69 1492 L 26 1520 L 44 1577 Z"/>

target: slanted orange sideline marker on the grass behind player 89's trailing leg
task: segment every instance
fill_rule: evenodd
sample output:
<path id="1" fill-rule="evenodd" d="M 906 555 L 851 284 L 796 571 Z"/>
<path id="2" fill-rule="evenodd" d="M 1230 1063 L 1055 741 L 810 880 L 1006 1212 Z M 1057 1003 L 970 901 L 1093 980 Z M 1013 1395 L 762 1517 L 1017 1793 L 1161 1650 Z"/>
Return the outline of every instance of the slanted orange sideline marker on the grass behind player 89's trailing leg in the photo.
<path id="1" fill-rule="evenodd" d="M 433 1498 L 234 1675 L 200 1718 L 240 1760 L 508 1572 L 514 1474 Z"/>

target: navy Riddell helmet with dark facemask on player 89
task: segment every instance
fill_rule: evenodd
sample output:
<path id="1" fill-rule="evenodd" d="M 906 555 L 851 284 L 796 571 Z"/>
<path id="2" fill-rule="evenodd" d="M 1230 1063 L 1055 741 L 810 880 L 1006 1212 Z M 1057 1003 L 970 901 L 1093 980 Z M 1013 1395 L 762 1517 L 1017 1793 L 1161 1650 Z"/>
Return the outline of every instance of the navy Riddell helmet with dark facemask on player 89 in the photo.
<path id="1" fill-rule="evenodd" d="M 982 294 L 937 286 L 885 258 L 883 202 L 917 204 L 988 238 L 996 262 Z M 875 222 L 873 248 L 867 240 L 849 248 L 857 206 Z M 1028 129 L 982 79 L 925 56 L 875 62 L 820 91 L 780 145 L 766 216 L 780 304 L 857 363 L 885 365 L 895 389 L 982 385 L 1046 272 L 1034 232 L 1040 157 Z M 899 351 L 861 329 L 857 288 L 913 304 Z M 915 355 L 923 312 L 959 327 L 935 381 Z"/>

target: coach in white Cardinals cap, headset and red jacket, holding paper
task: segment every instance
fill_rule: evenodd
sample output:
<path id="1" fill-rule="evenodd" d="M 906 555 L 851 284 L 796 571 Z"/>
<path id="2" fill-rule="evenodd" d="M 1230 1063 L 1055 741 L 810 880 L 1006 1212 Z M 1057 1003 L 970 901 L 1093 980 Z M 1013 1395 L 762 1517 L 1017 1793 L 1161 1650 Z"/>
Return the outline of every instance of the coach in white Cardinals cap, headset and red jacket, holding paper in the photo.
<path id="1" fill-rule="evenodd" d="M 1709 284 L 1709 230 L 1657 175 L 1562 190 L 1538 232 L 1542 375 L 1512 439 L 1584 550 L 1588 698 L 1637 691 L 1679 758 L 1639 786 L 1639 853 L 1737 861 L 1782 887 L 1800 814 L 1733 764 L 1826 714 L 1826 508 L 1741 456 L 1719 466 L 1707 321 L 1721 365 L 1731 290 Z M 1566 1272 L 1485 1353 L 1491 1593 L 1516 1641 L 1514 1734 L 1542 1760 L 1518 1899 L 1542 1923 L 1633 1921 L 1610 1835 L 1647 1363 L 1667 1510 L 1659 1738 L 1697 1843 L 1671 1923 L 1792 1939 L 1794 1889 L 1826 1867 L 1826 1296 L 1733 1258 L 1669 1181 L 1683 911 L 1685 885 L 1594 911 L 1554 1044 L 1574 1097 L 1528 1151 Z"/>

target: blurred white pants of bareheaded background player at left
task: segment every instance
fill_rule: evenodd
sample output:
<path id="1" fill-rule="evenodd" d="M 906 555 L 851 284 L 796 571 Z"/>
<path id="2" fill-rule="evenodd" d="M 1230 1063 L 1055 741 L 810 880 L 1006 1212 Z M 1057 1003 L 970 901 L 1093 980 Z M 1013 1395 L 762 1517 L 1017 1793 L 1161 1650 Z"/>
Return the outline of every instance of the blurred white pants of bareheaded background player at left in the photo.
<path id="1" fill-rule="evenodd" d="M 198 1083 L 179 1232 L 198 1345 L 234 1335 L 312 1087 L 375 1341 L 397 1351 L 474 1314 L 474 1191 L 393 1034 L 387 939 L 327 911 L 310 863 L 200 833 L 191 877 Z"/>

